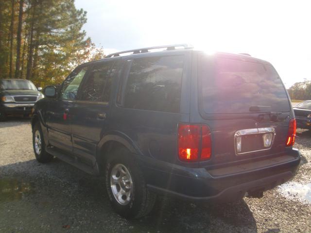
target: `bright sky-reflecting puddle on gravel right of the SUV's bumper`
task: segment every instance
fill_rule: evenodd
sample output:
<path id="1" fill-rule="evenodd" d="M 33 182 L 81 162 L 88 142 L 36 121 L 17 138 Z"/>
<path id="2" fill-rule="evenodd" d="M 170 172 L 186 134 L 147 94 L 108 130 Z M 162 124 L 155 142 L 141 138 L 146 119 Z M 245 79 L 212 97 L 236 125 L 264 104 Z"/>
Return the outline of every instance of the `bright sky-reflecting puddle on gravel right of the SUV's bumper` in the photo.
<path id="1" fill-rule="evenodd" d="M 283 196 L 289 199 L 297 199 L 304 203 L 311 203 L 311 183 L 301 184 L 297 182 L 284 183 L 278 186 Z"/>

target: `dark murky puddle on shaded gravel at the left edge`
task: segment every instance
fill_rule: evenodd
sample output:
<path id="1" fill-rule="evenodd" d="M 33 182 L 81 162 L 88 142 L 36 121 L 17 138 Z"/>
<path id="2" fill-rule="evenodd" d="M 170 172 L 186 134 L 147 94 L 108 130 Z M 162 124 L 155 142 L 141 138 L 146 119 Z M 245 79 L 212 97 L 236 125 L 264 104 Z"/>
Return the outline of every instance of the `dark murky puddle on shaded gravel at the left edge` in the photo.
<path id="1" fill-rule="evenodd" d="M 25 193 L 32 191 L 30 183 L 17 179 L 0 179 L 0 202 L 20 200 Z"/>

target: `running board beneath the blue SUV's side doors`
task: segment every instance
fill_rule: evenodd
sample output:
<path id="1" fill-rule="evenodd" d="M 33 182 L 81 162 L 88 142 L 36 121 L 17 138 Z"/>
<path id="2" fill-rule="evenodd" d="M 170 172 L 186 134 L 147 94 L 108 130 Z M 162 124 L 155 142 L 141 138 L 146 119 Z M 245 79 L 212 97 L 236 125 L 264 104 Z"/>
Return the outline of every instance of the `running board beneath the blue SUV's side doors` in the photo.
<path id="1" fill-rule="evenodd" d="M 93 167 L 91 166 L 87 166 L 86 164 L 83 164 L 81 162 L 79 162 L 78 158 L 76 156 L 73 155 L 66 155 L 66 152 L 60 151 L 59 149 L 56 149 L 54 147 L 47 147 L 46 151 L 49 154 L 52 154 L 53 156 L 59 158 L 60 160 L 75 166 L 77 168 L 79 168 L 80 170 L 85 171 L 86 173 L 90 174 L 90 175 L 97 175 L 97 173 L 95 172 L 95 170 L 93 169 Z"/>

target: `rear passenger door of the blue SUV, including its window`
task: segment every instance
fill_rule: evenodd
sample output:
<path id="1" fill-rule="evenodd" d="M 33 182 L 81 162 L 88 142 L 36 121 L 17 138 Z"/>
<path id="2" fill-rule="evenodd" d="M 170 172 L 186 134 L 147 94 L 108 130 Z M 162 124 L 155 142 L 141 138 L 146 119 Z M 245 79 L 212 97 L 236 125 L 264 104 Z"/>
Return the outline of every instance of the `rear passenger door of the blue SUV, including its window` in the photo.
<path id="1" fill-rule="evenodd" d="M 96 145 L 109 122 L 109 99 L 115 59 L 96 62 L 70 109 L 73 152 L 86 165 L 95 162 Z"/>

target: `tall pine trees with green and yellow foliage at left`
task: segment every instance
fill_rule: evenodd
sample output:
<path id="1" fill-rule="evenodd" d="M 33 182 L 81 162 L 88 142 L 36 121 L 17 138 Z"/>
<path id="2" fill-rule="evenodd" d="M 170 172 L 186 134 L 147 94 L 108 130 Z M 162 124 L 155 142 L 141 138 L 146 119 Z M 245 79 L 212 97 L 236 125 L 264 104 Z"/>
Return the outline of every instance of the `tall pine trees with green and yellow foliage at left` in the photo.
<path id="1" fill-rule="evenodd" d="M 14 4 L 12 4 L 14 2 Z M 19 6 L 22 4 L 20 57 L 17 54 Z M 14 22 L 11 27 L 12 6 Z M 104 57 L 82 31 L 86 11 L 76 9 L 74 0 L 0 0 L 0 78 L 15 73 L 20 61 L 18 78 L 30 79 L 37 86 L 61 83 L 77 65 Z M 10 33 L 13 30 L 13 49 Z M 13 55 L 13 66 L 9 57 Z"/>

